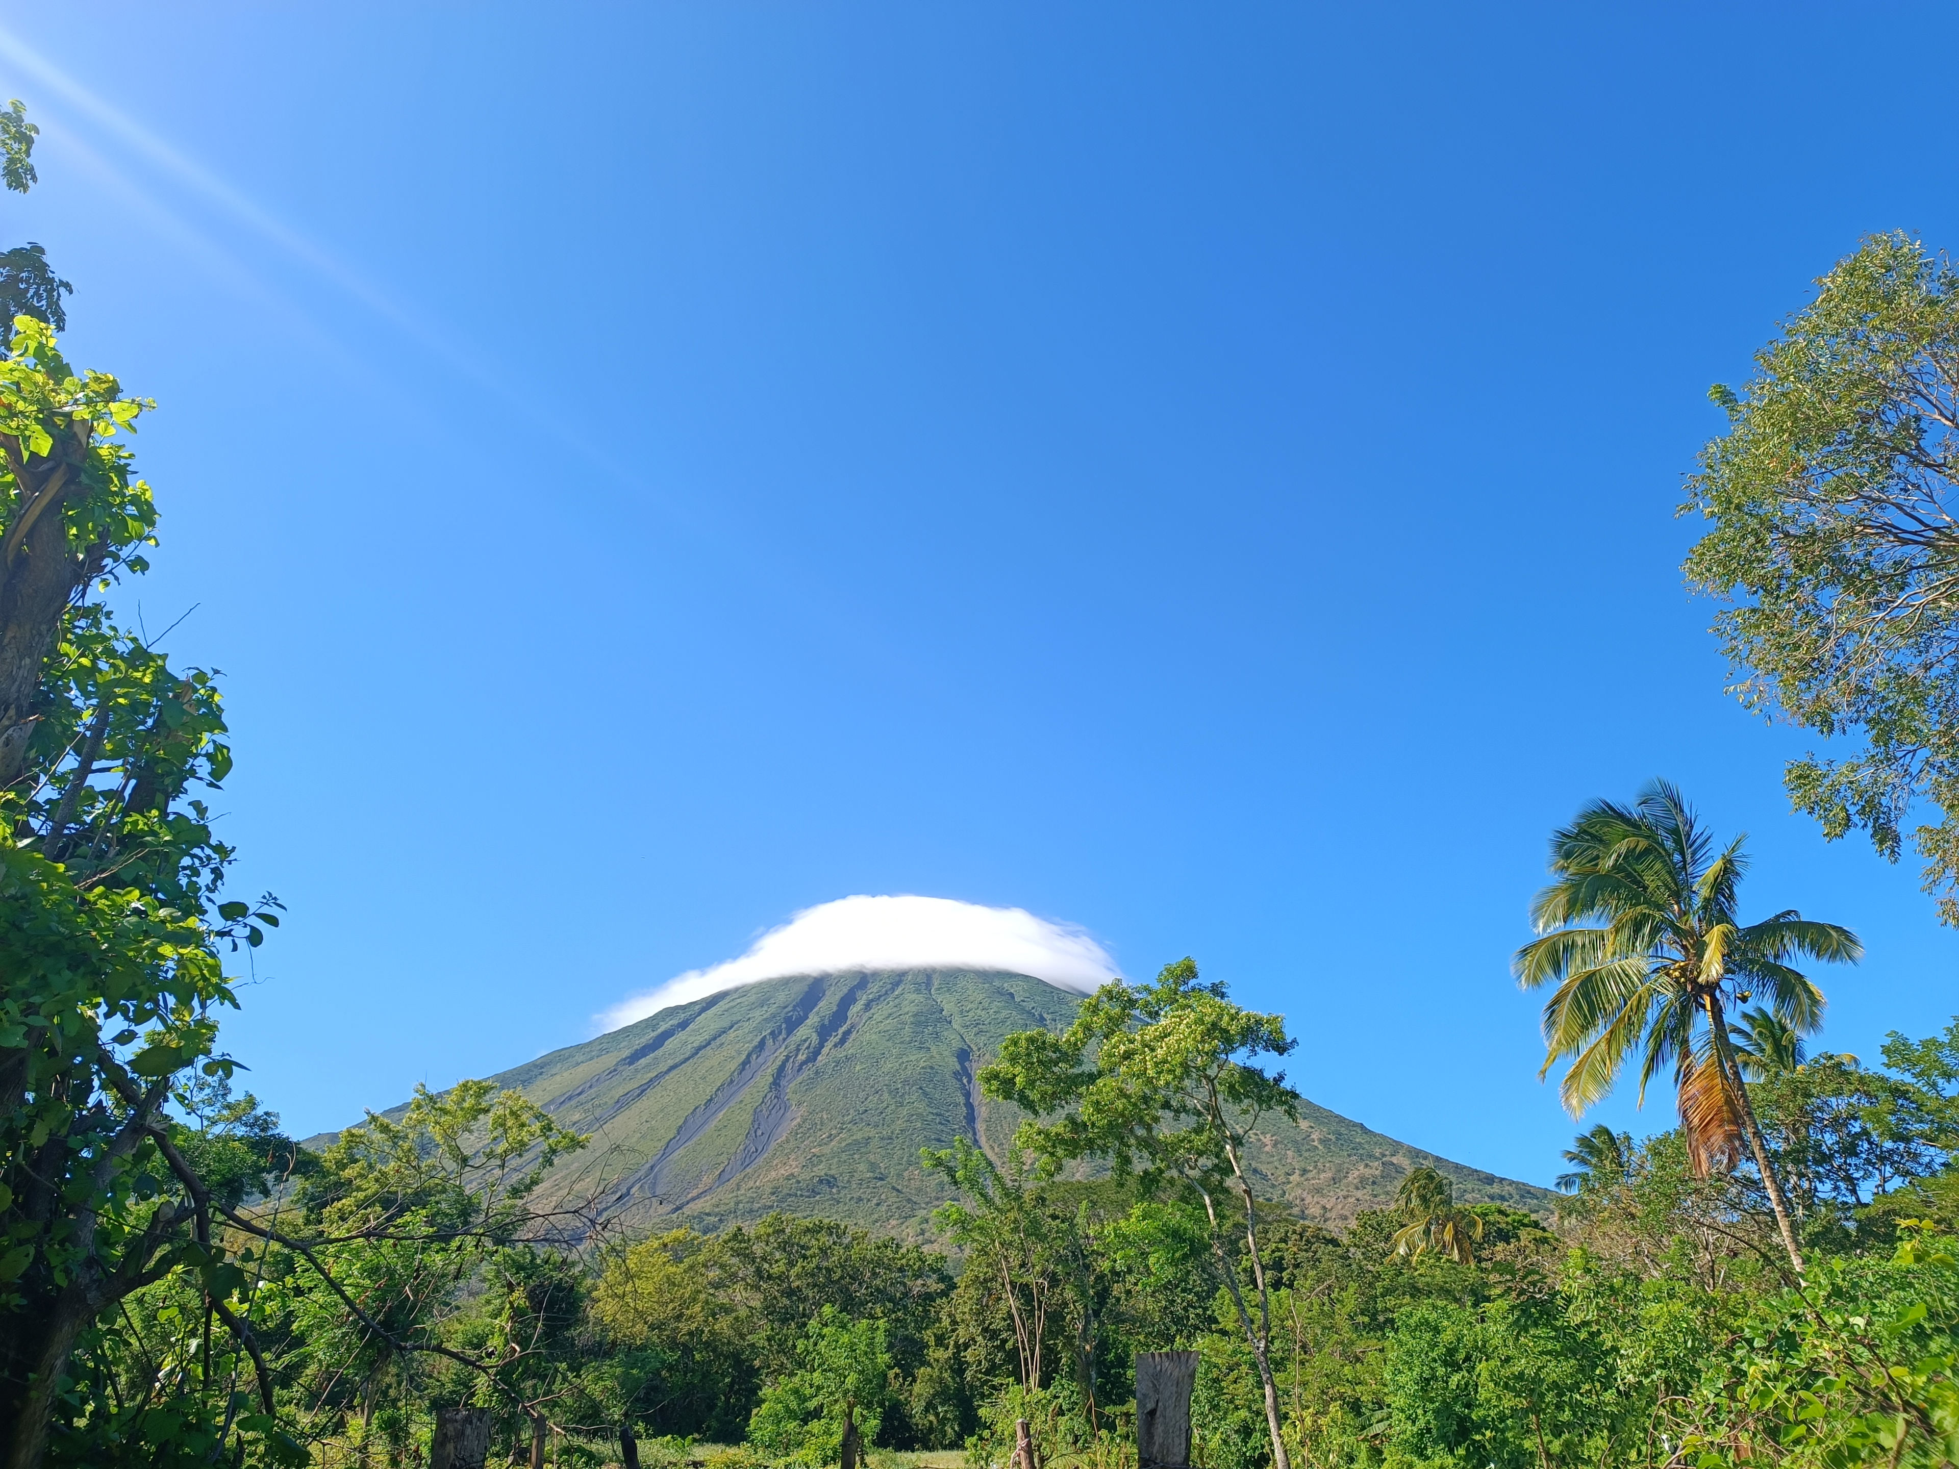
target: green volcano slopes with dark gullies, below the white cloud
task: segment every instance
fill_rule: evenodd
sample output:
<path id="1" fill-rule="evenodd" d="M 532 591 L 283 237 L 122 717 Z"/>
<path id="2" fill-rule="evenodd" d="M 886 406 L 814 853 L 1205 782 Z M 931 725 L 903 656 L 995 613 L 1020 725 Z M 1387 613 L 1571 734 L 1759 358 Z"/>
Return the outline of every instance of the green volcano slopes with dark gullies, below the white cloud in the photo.
<path id="1" fill-rule="evenodd" d="M 646 1228 L 719 1228 L 784 1208 L 913 1232 L 944 1201 L 921 1148 L 1003 1142 L 1017 1124 L 974 1071 L 1013 1030 L 1068 1024 L 1075 997 L 1017 973 L 856 971 L 768 979 L 678 1005 L 494 1077 L 592 1148 L 552 1193 Z M 1267 1187 L 1328 1224 L 1393 1201 L 1432 1163 L 1467 1203 L 1544 1210 L 1544 1189 L 1369 1132 L 1311 1103 L 1266 1128 Z"/>

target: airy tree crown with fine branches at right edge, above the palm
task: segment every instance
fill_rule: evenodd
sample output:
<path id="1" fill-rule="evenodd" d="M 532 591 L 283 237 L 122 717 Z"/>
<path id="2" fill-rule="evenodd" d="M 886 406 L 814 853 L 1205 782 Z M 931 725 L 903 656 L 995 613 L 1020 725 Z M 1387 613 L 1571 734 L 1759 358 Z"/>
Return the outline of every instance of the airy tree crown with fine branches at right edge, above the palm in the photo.
<path id="1" fill-rule="evenodd" d="M 1896 860 L 1912 809 L 1926 891 L 1959 923 L 1959 272 L 1875 235 L 1716 386 L 1728 433 L 1683 511 L 1710 521 L 1687 576 L 1726 599 L 1714 631 L 1751 709 L 1861 740 L 1792 760 L 1824 834 Z"/>

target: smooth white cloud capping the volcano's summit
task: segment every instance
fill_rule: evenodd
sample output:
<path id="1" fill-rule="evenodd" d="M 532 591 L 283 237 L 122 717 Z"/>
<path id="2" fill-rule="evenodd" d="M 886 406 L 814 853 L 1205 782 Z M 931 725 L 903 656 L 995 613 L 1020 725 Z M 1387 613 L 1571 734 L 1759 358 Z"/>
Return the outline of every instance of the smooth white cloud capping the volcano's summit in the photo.
<path id="1" fill-rule="evenodd" d="M 950 897 L 838 897 L 770 928 L 739 960 L 688 970 L 619 1001 L 599 1017 L 599 1028 L 617 1030 L 670 1005 L 791 973 L 944 968 L 1030 973 L 1083 995 L 1117 971 L 1083 928 L 1027 909 Z"/>

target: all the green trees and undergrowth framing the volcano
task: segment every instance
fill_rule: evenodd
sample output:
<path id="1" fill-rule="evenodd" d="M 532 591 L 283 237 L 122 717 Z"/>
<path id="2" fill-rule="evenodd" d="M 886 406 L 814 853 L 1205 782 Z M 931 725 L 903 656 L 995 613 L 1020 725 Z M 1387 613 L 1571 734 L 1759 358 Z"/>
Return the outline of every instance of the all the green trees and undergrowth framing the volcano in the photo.
<path id="1" fill-rule="evenodd" d="M 33 137 L 0 114 L 20 192 Z M 1573 1114 L 1638 1085 L 1679 1124 L 1581 1132 L 1542 1216 L 1430 1167 L 1340 1232 L 1266 1197 L 1244 1156 L 1297 1114 L 1293 1040 L 1191 960 L 1001 1044 L 976 1081 L 1027 1120 L 925 1152 L 958 1195 L 931 1244 L 782 1212 L 621 1232 L 547 1187 L 590 1140 L 486 1081 L 300 1146 L 221 1046 L 280 907 L 225 895 L 215 676 L 114 613 L 157 545 L 149 405 L 69 364 L 67 294 L 37 245 L 0 255 L 6 1469 L 449 1469 L 464 1418 L 533 1469 L 1140 1469 L 1162 1350 L 1199 1357 L 1203 1469 L 1959 1461 L 1959 1019 L 1824 1050 L 1812 970 L 1859 940 L 1757 901 L 1665 783 L 1553 832 L 1516 977 Z M 1745 697 L 1869 738 L 1792 768 L 1798 799 L 1894 848 L 1930 797 L 1935 887 L 1951 300 L 1898 237 L 1824 280 L 1722 396 L 1691 564 L 1740 599 Z"/>

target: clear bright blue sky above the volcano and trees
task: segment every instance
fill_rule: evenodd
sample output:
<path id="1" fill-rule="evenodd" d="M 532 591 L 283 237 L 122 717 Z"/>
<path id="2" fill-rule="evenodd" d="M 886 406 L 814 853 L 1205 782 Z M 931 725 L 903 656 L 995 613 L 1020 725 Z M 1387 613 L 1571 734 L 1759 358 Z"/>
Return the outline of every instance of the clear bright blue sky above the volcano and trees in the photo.
<path id="1" fill-rule="evenodd" d="M 1949 8 L 0 25 L 0 231 L 161 403 L 135 595 L 227 674 L 292 917 L 225 1034 L 300 1132 L 927 893 L 1195 954 L 1314 1101 L 1548 1181 L 1508 954 L 1653 774 L 1865 936 L 1826 1044 L 1959 1009 L 1914 870 L 1789 815 L 1673 517 L 1816 274 L 1959 245 Z"/>

